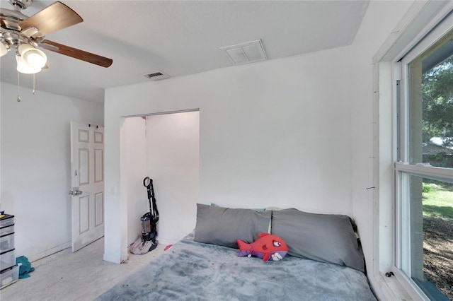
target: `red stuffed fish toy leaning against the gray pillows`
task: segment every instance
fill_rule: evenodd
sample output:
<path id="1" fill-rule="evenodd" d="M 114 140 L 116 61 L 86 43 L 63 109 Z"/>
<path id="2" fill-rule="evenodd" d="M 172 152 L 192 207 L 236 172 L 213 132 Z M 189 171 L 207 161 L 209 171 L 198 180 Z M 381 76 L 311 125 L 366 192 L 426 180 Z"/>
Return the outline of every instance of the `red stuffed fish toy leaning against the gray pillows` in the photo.
<path id="1" fill-rule="evenodd" d="M 247 244 L 242 240 L 236 240 L 239 246 L 239 257 L 242 256 L 257 256 L 263 261 L 279 261 L 285 257 L 288 252 L 288 246 L 282 238 L 269 233 L 258 234 L 258 240 Z"/>

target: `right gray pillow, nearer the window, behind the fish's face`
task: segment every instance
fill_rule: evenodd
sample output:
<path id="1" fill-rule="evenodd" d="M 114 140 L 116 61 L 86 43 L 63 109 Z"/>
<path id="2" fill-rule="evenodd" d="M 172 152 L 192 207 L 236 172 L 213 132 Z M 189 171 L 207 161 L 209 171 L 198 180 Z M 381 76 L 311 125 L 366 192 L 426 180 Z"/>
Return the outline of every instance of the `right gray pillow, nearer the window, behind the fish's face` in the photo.
<path id="1" fill-rule="evenodd" d="M 348 216 L 306 213 L 295 208 L 273 211 L 272 234 L 285 240 L 289 255 L 365 271 L 362 248 Z"/>

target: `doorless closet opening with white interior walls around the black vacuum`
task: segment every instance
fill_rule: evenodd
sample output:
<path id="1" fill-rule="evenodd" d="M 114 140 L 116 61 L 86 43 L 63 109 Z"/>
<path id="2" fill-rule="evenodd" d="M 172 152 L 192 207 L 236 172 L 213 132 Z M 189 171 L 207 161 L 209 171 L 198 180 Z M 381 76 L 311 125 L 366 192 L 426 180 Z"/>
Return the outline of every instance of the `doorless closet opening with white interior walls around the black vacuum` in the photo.
<path id="1" fill-rule="evenodd" d="M 154 182 L 157 240 L 173 244 L 195 228 L 200 195 L 199 110 L 122 119 L 120 197 L 127 203 L 128 245 L 141 235 L 140 216 L 149 211 L 144 177 Z"/>

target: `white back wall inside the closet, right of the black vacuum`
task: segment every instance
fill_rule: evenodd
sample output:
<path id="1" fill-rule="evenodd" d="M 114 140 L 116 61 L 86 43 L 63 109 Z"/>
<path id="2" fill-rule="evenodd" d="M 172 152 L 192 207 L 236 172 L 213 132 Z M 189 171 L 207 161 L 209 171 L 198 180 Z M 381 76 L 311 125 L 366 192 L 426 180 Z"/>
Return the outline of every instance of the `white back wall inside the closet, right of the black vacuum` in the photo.
<path id="1" fill-rule="evenodd" d="M 195 228 L 194 204 L 200 200 L 199 116 L 180 112 L 147 117 L 147 175 L 154 180 L 158 239 L 167 244 Z"/>

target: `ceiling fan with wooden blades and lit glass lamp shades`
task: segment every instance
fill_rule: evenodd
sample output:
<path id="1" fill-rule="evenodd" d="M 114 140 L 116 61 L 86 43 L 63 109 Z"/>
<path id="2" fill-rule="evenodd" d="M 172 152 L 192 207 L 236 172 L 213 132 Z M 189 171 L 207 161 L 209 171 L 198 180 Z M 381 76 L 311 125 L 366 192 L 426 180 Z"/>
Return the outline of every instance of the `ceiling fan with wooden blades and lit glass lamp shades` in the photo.
<path id="1" fill-rule="evenodd" d="M 81 16 L 62 2 L 55 2 L 33 16 L 25 16 L 21 9 L 28 8 L 33 0 L 8 0 L 13 10 L 0 8 L 0 57 L 11 49 L 16 50 L 17 69 L 21 73 L 37 73 L 47 68 L 43 49 L 109 67 L 112 59 L 80 49 L 52 42 L 45 35 L 83 22 Z"/>

